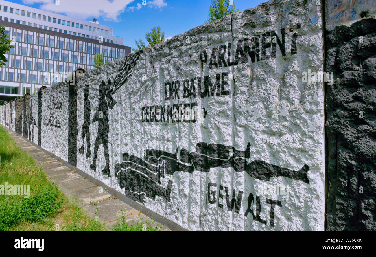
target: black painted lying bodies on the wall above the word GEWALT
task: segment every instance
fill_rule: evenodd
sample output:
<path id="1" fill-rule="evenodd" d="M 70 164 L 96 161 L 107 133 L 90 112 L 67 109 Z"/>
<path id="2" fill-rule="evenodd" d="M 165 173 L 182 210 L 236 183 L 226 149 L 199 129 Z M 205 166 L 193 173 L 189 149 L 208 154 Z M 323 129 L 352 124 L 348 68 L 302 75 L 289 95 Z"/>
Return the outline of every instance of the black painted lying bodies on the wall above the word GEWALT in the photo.
<path id="1" fill-rule="evenodd" d="M 177 149 L 174 154 L 146 149 L 144 160 L 125 153 L 123 162 L 115 165 L 115 176 L 120 188 L 125 188 L 126 196 L 141 203 L 144 203 L 145 196 L 155 200 L 157 195 L 170 201 L 172 181 L 168 181 L 167 189 L 161 186 L 161 177 L 164 178 L 166 173 L 193 173 L 194 170 L 209 172 L 214 167 L 233 167 L 236 172 L 246 171 L 252 178 L 264 181 L 269 181 L 271 177 L 285 176 L 309 184 L 307 164 L 300 170 L 290 170 L 261 160 L 248 163 L 246 159 L 250 158 L 249 150 L 250 143 L 247 144 L 246 151 L 239 151 L 223 144 L 200 142 L 196 144 L 196 152 L 181 149 L 179 160 Z"/>

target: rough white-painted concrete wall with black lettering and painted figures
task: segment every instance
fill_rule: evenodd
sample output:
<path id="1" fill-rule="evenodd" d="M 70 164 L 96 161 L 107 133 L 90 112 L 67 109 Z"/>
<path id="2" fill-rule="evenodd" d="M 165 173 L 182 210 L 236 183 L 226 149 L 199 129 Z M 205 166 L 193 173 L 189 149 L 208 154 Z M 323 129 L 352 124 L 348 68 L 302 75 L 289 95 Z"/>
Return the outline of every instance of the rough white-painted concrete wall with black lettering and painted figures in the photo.
<path id="1" fill-rule="evenodd" d="M 189 230 L 324 230 L 320 10 L 262 3 L 53 85 L 30 140 Z"/>

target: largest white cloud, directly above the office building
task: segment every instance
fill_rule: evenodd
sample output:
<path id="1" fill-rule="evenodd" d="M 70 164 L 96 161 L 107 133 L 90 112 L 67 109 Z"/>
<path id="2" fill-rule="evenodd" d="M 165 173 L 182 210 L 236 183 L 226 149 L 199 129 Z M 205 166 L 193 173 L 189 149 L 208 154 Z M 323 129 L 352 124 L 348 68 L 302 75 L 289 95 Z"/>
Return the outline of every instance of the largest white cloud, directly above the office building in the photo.
<path id="1" fill-rule="evenodd" d="M 60 14 L 85 20 L 90 17 L 103 18 L 108 21 L 120 21 L 120 14 L 126 11 L 126 6 L 134 0 L 23 0 L 25 4 L 38 4 L 39 9 L 51 10 Z M 161 0 L 154 0 L 160 2 Z M 162 0 L 163 2 L 163 0 Z M 133 9 L 140 9 L 138 3 Z"/>

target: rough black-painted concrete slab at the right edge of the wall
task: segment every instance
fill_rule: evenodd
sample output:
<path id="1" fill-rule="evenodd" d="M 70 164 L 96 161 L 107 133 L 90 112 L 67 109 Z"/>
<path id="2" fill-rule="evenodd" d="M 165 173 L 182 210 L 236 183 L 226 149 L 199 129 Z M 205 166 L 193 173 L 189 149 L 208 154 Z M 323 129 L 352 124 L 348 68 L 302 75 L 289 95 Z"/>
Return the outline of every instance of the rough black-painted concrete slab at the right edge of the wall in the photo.
<path id="1" fill-rule="evenodd" d="M 376 20 L 326 36 L 327 230 L 376 230 Z"/>

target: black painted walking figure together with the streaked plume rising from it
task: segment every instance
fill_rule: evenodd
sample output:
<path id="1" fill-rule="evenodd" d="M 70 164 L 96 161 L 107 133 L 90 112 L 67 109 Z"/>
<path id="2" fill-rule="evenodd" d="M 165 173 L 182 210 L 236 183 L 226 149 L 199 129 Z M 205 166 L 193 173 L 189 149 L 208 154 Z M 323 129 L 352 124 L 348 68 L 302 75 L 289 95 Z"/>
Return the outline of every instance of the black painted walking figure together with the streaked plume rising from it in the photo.
<path id="1" fill-rule="evenodd" d="M 115 76 L 114 83 L 111 84 L 111 79 L 108 80 L 106 85 L 105 81 L 102 81 L 99 85 L 99 104 L 96 113 L 92 119 L 92 123 L 98 122 L 98 133 L 94 146 L 94 158 L 93 163 L 90 164 L 90 169 L 96 171 L 97 166 L 97 152 L 99 146 L 103 144 L 103 150 L 105 151 L 106 166 L 102 170 L 103 175 L 111 177 L 109 166 L 109 153 L 108 153 L 108 132 L 109 132 L 109 119 L 108 108 L 114 108 L 117 103 L 112 95 L 126 82 L 126 80 L 133 74 L 133 67 L 136 65 L 136 61 L 142 51 L 138 51 L 134 54 L 129 54 L 125 57 L 125 60 L 120 68 L 120 73 Z M 82 132 L 83 133 L 83 132 Z M 82 134 L 83 135 L 83 134 Z"/>

